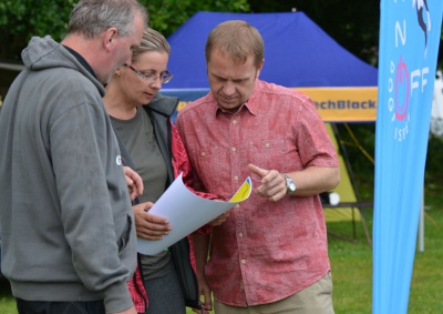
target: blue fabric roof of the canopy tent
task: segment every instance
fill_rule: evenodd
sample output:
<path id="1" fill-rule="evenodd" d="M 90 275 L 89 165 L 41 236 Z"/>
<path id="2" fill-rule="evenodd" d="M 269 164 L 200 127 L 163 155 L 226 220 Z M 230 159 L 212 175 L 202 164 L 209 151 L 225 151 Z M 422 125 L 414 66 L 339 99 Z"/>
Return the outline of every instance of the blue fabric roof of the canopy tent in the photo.
<path id="1" fill-rule="evenodd" d="M 265 41 L 260 79 L 289 88 L 375 87 L 378 71 L 338 44 L 303 12 L 198 12 L 169 38 L 166 89 L 207 89 L 205 43 L 209 31 L 227 20 L 245 20 Z"/>

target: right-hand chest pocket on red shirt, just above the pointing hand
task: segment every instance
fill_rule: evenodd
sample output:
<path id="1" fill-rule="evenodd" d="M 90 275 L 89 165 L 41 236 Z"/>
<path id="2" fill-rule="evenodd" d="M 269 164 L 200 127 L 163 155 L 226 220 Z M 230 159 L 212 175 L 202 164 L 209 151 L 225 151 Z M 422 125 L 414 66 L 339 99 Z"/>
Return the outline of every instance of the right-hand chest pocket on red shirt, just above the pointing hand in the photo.
<path id="1" fill-rule="evenodd" d="M 275 169 L 280 172 L 288 168 L 288 153 L 289 148 L 285 139 L 249 141 L 246 148 L 248 163 L 266 170 Z M 250 178 L 255 182 L 261 181 L 261 178 L 255 173 L 251 173 Z"/>

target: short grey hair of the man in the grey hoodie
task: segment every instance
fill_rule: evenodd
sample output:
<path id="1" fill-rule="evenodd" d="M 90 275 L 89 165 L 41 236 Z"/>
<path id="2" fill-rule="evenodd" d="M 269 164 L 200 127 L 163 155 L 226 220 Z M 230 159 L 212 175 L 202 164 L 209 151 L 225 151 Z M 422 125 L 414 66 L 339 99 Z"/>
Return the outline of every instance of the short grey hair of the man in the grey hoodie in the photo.
<path id="1" fill-rule="evenodd" d="M 132 33 L 137 14 L 147 27 L 147 11 L 137 0 L 81 0 L 71 12 L 68 33 L 92 39 L 109 28 L 116 28 L 120 36 L 126 37 Z"/>

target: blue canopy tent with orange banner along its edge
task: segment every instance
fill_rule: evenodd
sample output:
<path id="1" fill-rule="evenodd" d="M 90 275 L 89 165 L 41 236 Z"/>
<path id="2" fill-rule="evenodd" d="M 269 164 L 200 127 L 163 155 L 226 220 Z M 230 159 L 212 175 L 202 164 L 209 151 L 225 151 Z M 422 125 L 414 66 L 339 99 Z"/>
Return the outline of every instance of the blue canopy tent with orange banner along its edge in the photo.
<path id="1" fill-rule="evenodd" d="M 202 11 L 193 16 L 168 38 L 168 70 L 174 79 L 162 92 L 181 99 L 178 110 L 208 92 L 206 39 L 227 20 L 245 20 L 260 31 L 265 41 L 261 80 L 307 93 L 326 122 L 375 120 L 378 70 L 343 49 L 303 12 Z M 354 190 L 349 185 L 348 190 Z M 344 200 L 352 201 L 356 196 Z"/>

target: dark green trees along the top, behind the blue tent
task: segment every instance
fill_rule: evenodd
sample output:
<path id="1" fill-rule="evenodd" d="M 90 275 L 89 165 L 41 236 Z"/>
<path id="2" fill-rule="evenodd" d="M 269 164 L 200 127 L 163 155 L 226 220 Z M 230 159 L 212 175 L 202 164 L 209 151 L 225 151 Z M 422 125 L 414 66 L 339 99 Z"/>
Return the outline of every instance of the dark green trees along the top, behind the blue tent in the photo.
<path id="1" fill-rule="evenodd" d="M 0 1 L 0 59 L 19 60 L 31 36 L 61 40 L 76 0 Z M 278 12 L 301 10 L 346 49 L 377 65 L 379 1 L 343 0 L 141 0 L 150 26 L 166 37 L 197 11 Z M 442 53 L 441 53 L 442 55 Z M 440 58 L 441 60 L 441 58 Z"/>

